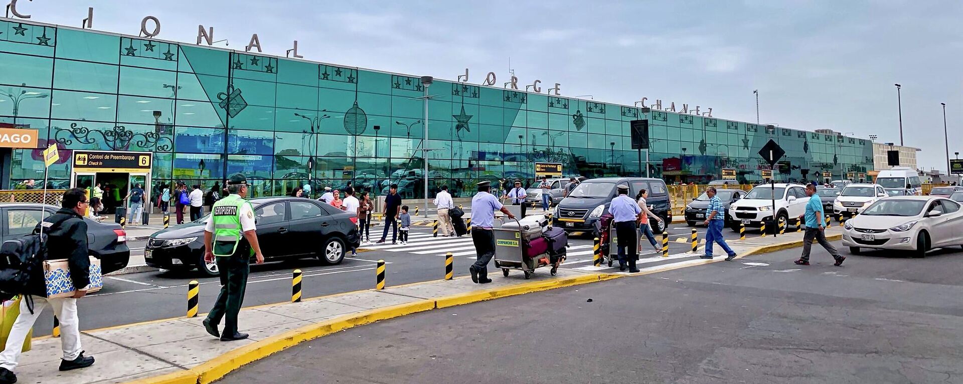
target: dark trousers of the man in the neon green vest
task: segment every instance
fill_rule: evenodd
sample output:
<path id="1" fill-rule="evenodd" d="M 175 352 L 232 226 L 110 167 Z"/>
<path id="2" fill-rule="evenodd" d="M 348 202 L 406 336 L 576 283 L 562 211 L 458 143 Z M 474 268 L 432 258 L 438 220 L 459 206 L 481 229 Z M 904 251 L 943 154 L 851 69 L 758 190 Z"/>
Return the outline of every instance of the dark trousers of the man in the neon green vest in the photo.
<path id="1" fill-rule="evenodd" d="M 242 241 L 243 242 L 243 241 Z M 238 331 L 238 312 L 244 304 L 247 289 L 247 272 L 250 267 L 250 247 L 247 242 L 238 245 L 233 255 L 217 257 L 221 272 L 221 294 L 207 318 L 214 324 L 224 319 L 223 335 L 233 335 Z"/>

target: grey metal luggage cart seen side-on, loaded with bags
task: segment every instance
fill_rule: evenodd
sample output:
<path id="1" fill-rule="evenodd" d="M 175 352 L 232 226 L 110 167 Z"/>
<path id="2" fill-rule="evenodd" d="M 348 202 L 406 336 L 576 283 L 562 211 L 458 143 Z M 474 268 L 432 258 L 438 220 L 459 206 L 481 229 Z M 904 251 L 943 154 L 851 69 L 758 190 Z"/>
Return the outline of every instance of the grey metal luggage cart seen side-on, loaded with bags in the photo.
<path id="1" fill-rule="evenodd" d="M 506 225 L 503 222 L 502 226 L 493 228 L 492 231 L 495 234 L 495 268 L 502 269 L 502 274 L 506 277 L 509 269 L 516 269 L 525 273 L 525 278 L 529 279 L 532 278 L 534 269 L 549 266 L 552 267 L 552 275 L 555 275 L 565 259 L 564 254 L 551 256 L 547 251 L 534 257 L 526 255 L 527 244 L 541 237 L 540 226 L 522 225 L 516 218 L 515 225 L 510 222 Z M 554 263 L 553 258 L 556 258 Z"/>

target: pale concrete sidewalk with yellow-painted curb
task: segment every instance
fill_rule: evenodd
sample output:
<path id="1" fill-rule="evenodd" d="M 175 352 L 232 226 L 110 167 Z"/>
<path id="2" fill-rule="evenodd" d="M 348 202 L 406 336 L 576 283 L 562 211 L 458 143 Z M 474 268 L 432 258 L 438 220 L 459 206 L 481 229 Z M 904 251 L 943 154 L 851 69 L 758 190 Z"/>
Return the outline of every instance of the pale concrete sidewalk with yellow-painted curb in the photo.
<path id="1" fill-rule="evenodd" d="M 827 236 L 838 239 L 841 232 L 840 228 L 834 227 L 827 230 Z M 744 242 L 730 241 L 730 244 L 741 256 L 748 256 L 798 246 L 801 239 L 801 233 L 792 233 L 778 238 L 769 236 Z M 389 280 L 383 291 L 366 290 L 306 299 L 300 303 L 246 308 L 242 310 L 240 325 L 242 332 L 250 334 L 250 340 L 240 342 L 222 343 L 208 335 L 201 325 L 203 316 L 90 330 L 82 333 L 82 342 L 87 354 L 94 356 L 97 363 L 89 369 L 78 371 L 57 371 L 60 341 L 39 338 L 34 340 L 33 350 L 23 355 L 21 365 L 15 372 L 22 382 L 45 384 L 118 383 L 159 375 L 163 375 L 163 380 L 146 382 L 207 383 L 286 347 L 376 320 L 513 294 L 716 263 L 723 259 L 701 260 L 693 256 L 671 255 L 663 259 L 670 263 L 642 268 L 642 272 L 637 274 L 612 272 L 617 269 L 602 267 L 564 269 L 563 265 L 557 276 L 538 269 L 531 280 L 524 280 L 519 272 L 503 277 L 491 266 L 492 273 L 489 276 L 493 277 L 494 282 L 486 285 L 473 284 L 467 278 L 456 278 L 392 287 Z M 654 262 L 645 262 L 647 264 L 641 264 L 640 267 L 659 264 L 658 260 Z M 467 266 L 459 263 L 455 268 Z M 439 269 L 439 276 L 441 274 L 442 270 Z M 390 279 L 390 274 L 388 276 Z M 374 286 L 374 273 L 371 278 Z M 84 305 L 83 300 L 80 305 Z M 208 309 L 211 305 L 210 302 L 202 302 L 200 308 Z"/>

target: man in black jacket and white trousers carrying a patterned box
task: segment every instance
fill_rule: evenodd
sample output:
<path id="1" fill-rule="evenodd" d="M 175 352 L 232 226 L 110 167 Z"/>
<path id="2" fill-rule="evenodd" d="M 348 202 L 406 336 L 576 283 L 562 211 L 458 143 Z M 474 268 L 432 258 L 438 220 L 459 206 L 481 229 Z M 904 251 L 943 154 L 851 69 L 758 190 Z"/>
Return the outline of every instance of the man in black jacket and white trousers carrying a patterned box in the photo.
<path id="1" fill-rule="evenodd" d="M 93 364 L 93 358 L 84 356 L 84 350 L 80 346 L 80 326 L 77 320 L 77 299 L 87 294 L 87 287 L 91 284 L 87 223 L 83 218 L 89 204 L 90 201 L 87 200 L 84 190 L 79 188 L 67 190 L 64 192 L 63 208 L 44 219 L 34 230 L 37 232 L 40 225 L 43 226 L 43 235 L 47 239 L 46 249 L 35 257 L 28 258 L 25 263 L 25 265 L 34 265 L 34 268 L 31 270 L 28 283 L 19 293 L 23 294 L 23 299 L 20 300 L 20 315 L 13 322 L 13 328 L 7 338 L 7 346 L 0 353 L 0 384 L 16 382 L 13 370 L 16 368 L 23 343 L 48 304 L 53 307 L 54 315 L 60 320 L 61 325 L 61 346 L 64 355 L 61 358 L 60 371 L 87 368 Z M 36 241 L 40 242 L 39 239 Z M 73 286 L 83 288 L 69 297 L 47 298 L 42 262 L 58 259 L 67 260 Z"/>

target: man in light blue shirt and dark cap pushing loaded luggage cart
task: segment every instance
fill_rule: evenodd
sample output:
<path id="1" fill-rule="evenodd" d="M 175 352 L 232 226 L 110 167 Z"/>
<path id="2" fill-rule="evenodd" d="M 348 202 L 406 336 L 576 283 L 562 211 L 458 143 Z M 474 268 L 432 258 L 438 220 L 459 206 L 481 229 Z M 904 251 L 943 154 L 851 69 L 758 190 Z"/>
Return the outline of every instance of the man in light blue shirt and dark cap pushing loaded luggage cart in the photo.
<path id="1" fill-rule="evenodd" d="M 475 244 L 477 259 L 468 271 L 472 273 L 472 281 L 477 284 L 491 282 L 488 278 L 488 262 L 495 256 L 495 233 L 492 230 L 495 226 L 495 211 L 501 211 L 508 215 L 508 218 L 515 218 L 508 212 L 508 208 L 498 201 L 498 197 L 489 193 L 490 190 L 491 182 L 482 181 L 478 184 L 479 192 L 472 197 L 472 243 Z"/>

